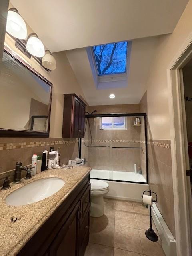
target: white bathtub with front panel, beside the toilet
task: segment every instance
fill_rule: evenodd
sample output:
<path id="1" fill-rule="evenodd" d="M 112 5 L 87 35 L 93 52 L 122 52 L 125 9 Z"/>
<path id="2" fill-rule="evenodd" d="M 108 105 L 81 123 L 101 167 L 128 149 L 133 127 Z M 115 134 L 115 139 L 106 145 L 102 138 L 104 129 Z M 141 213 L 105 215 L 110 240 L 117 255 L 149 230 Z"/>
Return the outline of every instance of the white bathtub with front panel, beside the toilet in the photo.
<path id="1" fill-rule="evenodd" d="M 134 172 L 118 172 L 92 169 L 90 177 L 91 179 L 105 180 L 109 184 L 109 192 L 105 196 L 107 198 L 141 202 L 143 191 L 149 190 L 148 184 L 132 183 L 146 182 L 145 178 L 141 174 Z M 110 179 L 124 180 L 128 182 L 112 181 Z"/>

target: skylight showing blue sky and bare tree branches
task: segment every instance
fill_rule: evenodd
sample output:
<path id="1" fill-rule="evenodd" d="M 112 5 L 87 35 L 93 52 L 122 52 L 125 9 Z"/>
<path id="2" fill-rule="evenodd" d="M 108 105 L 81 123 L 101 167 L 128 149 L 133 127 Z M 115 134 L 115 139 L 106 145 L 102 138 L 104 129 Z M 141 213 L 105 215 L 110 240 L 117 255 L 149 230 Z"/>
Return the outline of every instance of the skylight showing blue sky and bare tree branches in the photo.
<path id="1" fill-rule="evenodd" d="M 125 74 L 127 42 L 93 46 L 98 76 Z"/>

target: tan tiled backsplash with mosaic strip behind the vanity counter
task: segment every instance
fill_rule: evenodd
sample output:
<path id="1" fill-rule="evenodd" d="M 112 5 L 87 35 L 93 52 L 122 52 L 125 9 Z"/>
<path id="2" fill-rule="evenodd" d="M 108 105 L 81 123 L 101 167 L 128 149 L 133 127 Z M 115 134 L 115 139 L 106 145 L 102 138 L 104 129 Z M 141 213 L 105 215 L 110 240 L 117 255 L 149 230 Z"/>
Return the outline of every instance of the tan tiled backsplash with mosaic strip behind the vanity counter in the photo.
<path id="1" fill-rule="evenodd" d="M 0 138 L 0 186 L 6 176 L 13 180 L 15 163 L 21 161 L 24 166 L 31 164 L 32 155 L 42 156 L 42 152 L 60 147 L 60 162 L 66 164 L 69 159 L 78 156 L 78 140 L 62 138 Z M 26 175 L 25 171 L 22 176 Z"/>

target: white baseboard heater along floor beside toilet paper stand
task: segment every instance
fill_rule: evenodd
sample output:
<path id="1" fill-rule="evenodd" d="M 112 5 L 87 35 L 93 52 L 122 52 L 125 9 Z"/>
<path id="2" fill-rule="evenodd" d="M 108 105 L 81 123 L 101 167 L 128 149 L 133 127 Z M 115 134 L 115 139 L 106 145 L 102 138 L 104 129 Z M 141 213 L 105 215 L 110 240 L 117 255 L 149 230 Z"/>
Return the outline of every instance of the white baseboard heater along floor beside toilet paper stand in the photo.
<path id="1" fill-rule="evenodd" d="M 176 256 L 176 240 L 164 221 L 155 203 L 152 207 L 152 219 L 162 240 L 162 248 L 166 256 Z"/>

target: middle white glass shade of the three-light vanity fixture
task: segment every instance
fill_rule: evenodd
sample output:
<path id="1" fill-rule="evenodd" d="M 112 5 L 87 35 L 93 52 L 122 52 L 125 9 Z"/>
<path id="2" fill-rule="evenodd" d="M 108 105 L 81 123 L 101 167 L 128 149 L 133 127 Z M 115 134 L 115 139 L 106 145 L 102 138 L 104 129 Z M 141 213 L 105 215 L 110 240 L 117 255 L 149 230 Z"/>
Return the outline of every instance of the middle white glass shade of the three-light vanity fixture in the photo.
<path id="1" fill-rule="evenodd" d="M 36 57 L 43 57 L 45 55 L 44 45 L 36 33 L 31 33 L 28 35 L 26 49 L 30 54 Z"/>

